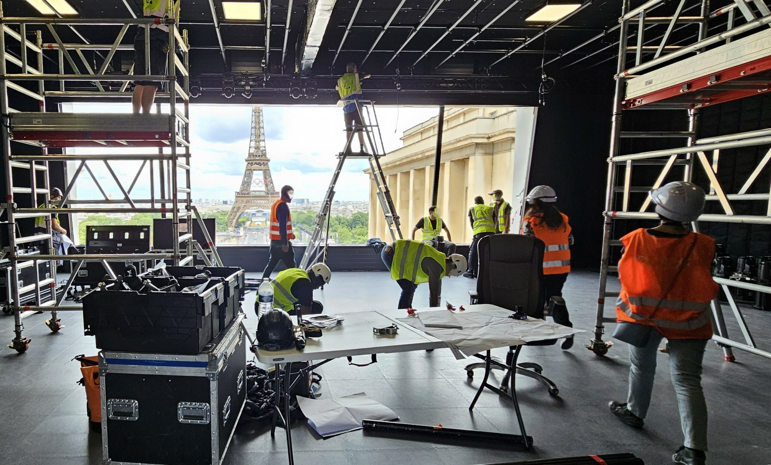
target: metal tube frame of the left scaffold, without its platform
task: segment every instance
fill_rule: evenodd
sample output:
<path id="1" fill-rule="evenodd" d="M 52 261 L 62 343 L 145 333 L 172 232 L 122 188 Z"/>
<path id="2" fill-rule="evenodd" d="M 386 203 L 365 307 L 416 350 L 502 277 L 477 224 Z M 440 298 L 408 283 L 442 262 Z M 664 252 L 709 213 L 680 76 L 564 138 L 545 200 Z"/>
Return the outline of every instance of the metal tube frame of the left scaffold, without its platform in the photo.
<path id="1" fill-rule="evenodd" d="M 9 348 L 15 349 L 17 352 L 25 352 L 29 348 L 29 342 L 31 339 L 25 338 L 22 335 L 24 325 L 22 319 L 26 316 L 32 315 L 39 311 L 50 311 L 51 318 L 46 320 L 46 324 L 52 332 L 58 332 L 62 328 L 59 322 L 58 312 L 62 311 L 82 311 L 82 305 L 62 305 L 66 295 L 66 291 L 71 287 L 74 277 L 77 275 L 79 268 L 86 261 L 99 261 L 103 264 L 107 275 L 112 278 L 116 277 L 115 272 L 110 268 L 109 261 L 122 261 L 122 260 L 161 260 L 170 259 L 174 265 L 192 265 L 194 259 L 194 250 L 199 251 L 204 258 L 204 263 L 211 265 L 222 265 L 222 261 L 219 258 L 219 254 L 214 248 L 214 241 L 209 237 L 208 231 L 204 226 L 203 220 L 200 217 L 197 209 L 192 204 L 191 198 L 191 184 L 190 184 L 190 133 L 189 133 L 189 103 L 190 103 L 190 78 L 189 78 L 189 64 L 190 64 L 190 45 L 187 40 L 187 30 L 180 33 L 177 28 L 178 10 L 173 8 L 170 2 L 167 18 L 134 18 L 134 19 L 82 19 L 82 18 L 8 18 L 2 14 L 2 2 L 0 2 L 0 114 L 2 114 L 2 156 L 3 164 L 5 168 L 5 184 L 7 200 L 5 204 L 0 205 L 0 214 L 5 212 L 8 219 L 8 248 L 3 249 L 2 256 L 8 258 L 10 261 L 12 275 L 16 275 L 20 268 L 25 266 L 35 266 L 38 261 L 50 261 L 52 264 L 52 277 L 46 280 L 40 280 L 39 276 L 36 276 L 35 284 L 28 285 L 20 288 L 16 280 L 12 280 L 8 284 L 9 293 L 12 299 L 11 310 L 15 318 L 15 337 Z M 150 75 L 150 27 L 149 25 L 166 25 L 168 28 L 168 52 L 167 52 L 167 75 L 153 76 Z M 12 25 L 14 27 L 12 27 Z M 28 25 L 45 25 L 48 32 L 52 35 L 55 43 L 45 44 L 42 42 L 42 32 L 35 31 L 34 43 L 27 38 Z M 65 44 L 60 39 L 53 28 L 54 25 L 118 25 L 120 26 L 120 32 L 116 36 L 116 40 L 112 44 L 98 45 L 98 44 Z M 121 45 L 123 37 L 126 35 L 130 25 L 137 25 L 138 27 L 145 26 L 144 39 L 145 39 L 145 63 L 146 69 L 143 72 L 137 73 L 131 67 L 128 74 L 105 74 L 109 68 L 109 64 L 113 59 L 115 52 L 119 49 L 126 49 L 126 45 Z M 16 28 L 16 29 L 15 29 Z M 15 56 L 9 52 L 6 46 L 6 39 L 13 39 L 20 45 L 20 54 Z M 58 54 L 57 65 L 59 67 L 57 74 L 49 74 L 45 72 L 43 54 L 45 50 L 53 49 Z M 108 50 L 108 53 L 99 69 L 93 69 L 86 57 L 83 55 L 83 50 Z M 72 53 L 81 60 L 80 66 L 75 59 L 72 58 Z M 181 54 L 178 56 L 177 54 Z M 33 56 L 35 63 L 32 64 L 30 56 Z M 7 63 L 10 62 L 21 69 L 18 74 L 8 73 Z M 69 72 L 66 67 L 69 65 Z M 177 74 L 182 76 L 182 82 L 177 79 Z M 130 139 L 120 139 L 124 134 L 121 133 L 120 128 L 120 115 L 117 116 L 117 123 L 119 127 L 114 128 L 116 133 L 120 133 L 119 136 L 104 136 L 103 140 L 99 139 L 99 136 L 93 138 L 93 140 L 82 140 L 82 137 L 72 136 L 72 131 L 68 133 L 66 130 L 61 130 L 63 126 L 52 126 L 54 133 L 59 135 L 54 136 L 55 140 L 46 140 L 51 136 L 51 132 L 45 133 L 45 131 L 38 131 L 40 135 L 38 140 L 35 140 L 35 130 L 29 130 L 29 128 L 22 128 L 18 132 L 15 132 L 14 118 L 25 115 L 40 115 L 42 118 L 49 118 L 50 115 L 56 115 L 56 120 L 61 123 L 68 119 L 66 113 L 46 113 L 45 100 L 46 97 L 56 97 L 58 99 L 66 99 L 68 97 L 82 97 L 89 96 L 95 98 L 110 98 L 110 97 L 123 97 L 130 98 L 131 93 L 126 92 L 126 88 L 130 81 L 137 78 L 141 78 L 147 81 L 160 81 L 167 83 L 167 89 L 169 92 L 157 93 L 157 97 L 167 98 L 169 105 L 169 113 L 164 116 L 167 118 L 168 126 L 167 140 L 158 140 L 157 135 L 148 135 L 147 132 L 134 131 L 134 133 L 128 133 Z M 37 83 L 37 92 L 22 85 L 24 82 L 34 81 Z M 70 81 L 86 81 L 92 83 L 94 90 L 83 91 L 68 90 L 66 83 Z M 123 82 L 120 89 L 117 91 L 109 91 L 103 86 L 103 82 Z M 46 89 L 46 82 L 59 82 L 59 90 Z M 160 86 L 159 86 L 160 87 Z M 8 90 L 13 90 L 22 97 L 29 97 L 39 102 L 38 113 L 22 113 L 19 110 L 15 110 L 9 106 Z M 180 109 L 178 100 L 181 100 L 182 108 Z M 160 111 L 160 103 L 157 103 L 157 113 Z M 47 116 L 48 115 L 48 116 Z M 83 116 L 83 114 L 69 114 L 73 120 L 76 116 Z M 126 115 L 123 115 L 126 116 Z M 142 115 L 133 116 L 133 121 L 141 121 L 137 118 L 143 117 L 158 117 L 160 115 Z M 62 120 L 63 119 L 63 120 Z M 126 121 L 130 121 L 126 119 Z M 26 130 L 25 130 L 26 129 Z M 99 132 L 98 128 L 96 133 L 103 134 L 102 130 Z M 125 129 L 125 128 L 124 128 Z M 79 127 L 79 131 L 83 132 L 89 130 L 89 127 Z M 125 131 L 124 131 L 125 132 Z M 45 133 L 45 134 L 42 134 Z M 19 136 L 19 134 L 22 134 Z M 63 135 L 62 135 L 63 134 Z M 68 136 L 68 134 L 70 134 Z M 15 136 L 15 137 L 14 137 Z M 34 147 L 39 147 L 40 154 L 38 155 L 16 155 L 12 153 L 12 142 L 25 143 Z M 105 150 L 104 154 L 97 155 L 82 155 L 82 154 L 49 154 L 49 148 L 59 147 L 157 147 L 157 153 L 146 154 L 133 154 L 123 155 L 116 153 L 107 153 L 109 150 Z M 164 153 L 164 148 L 168 149 L 167 153 Z M 148 150 L 150 151 L 150 150 Z M 49 180 L 49 161 L 79 161 L 79 167 L 75 174 L 72 176 L 72 180 L 66 186 L 62 195 L 62 201 L 60 204 L 64 204 L 67 201 L 67 197 L 72 192 L 76 180 L 83 170 L 89 173 L 90 177 L 94 180 L 96 187 L 103 194 L 104 200 L 69 200 L 69 204 L 108 204 L 109 207 L 67 207 L 56 208 L 56 211 L 52 211 L 50 207 L 56 207 L 52 205 L 50 200 L 50 180 Z M 128 187 L 125 187 L 121 183 L 119 177 L 113 170 L 112 165 L 109 162 L 117 162 L 124 160 L 141 160 L 140 169 L 133 176 Z M 157 176 L 160 187 L 160 197 L 155 197 L 155 179 L 156 173 L 153 167 L 155 161 L 158 161 Z M 122 200 L 109 200 L 104 193 L 103 188 L 96 180 L 90 169 L 89 161 L 101 161 L 104 163 L 106 169 L 109 171 L 111 177 L 116 182 L 117 187 L 123 194 Z M 130 197 L 133 187 L 139 180 L 140 175 L 145 170 L 145 167 L 149 168 L 150 174 L 150 199 L 133 199 Z M 13 184 L 14 176 L 12 173 L 13 168 L 22 168 L 29 170 L 30 172 L 30 186 L 31 187 L 15 187 Z M 185 185 L 180 186 L 178 183 L 178 170 L 184 170 Z M 37 178 L 35 173 L 42 172 L 44 185 L 41 188 L 37 186 Z M 31 196 L 30 208 L 19 208 L 14 200 L 15 194 L 29 194 Z M 180 194 L 182 198 L 180 199 Z M 43 197 L 42 204 L 39 203 L 39 197 Z M 123 204 L 127 207 L 118 207 Z M 137 204 L 150 204 L 150 207 L 137 207 Z M 170 204 L 170 208 L 167 207 Z M 43 207 L 39 208 L 38 206 Z M 114 205 L 114 207 L 113 207 Z M 160 213 L 162 217 L 166 217 L 170 214 L 172 218 L 172 234 L 174 238 L 179 238 L 178 241 L 173 241 L 173 251 L 171 253 L 155 253 L 148 252 L 146 254 L 81 254 L 81 255 L 58 255 L 51 254 L 52 251 L 52 229 L 51 229 L 51 214 L 52 213 Z M 16 235 L 16 221 L 20 218 L 31 217 L 44 217 L 45 218 L 45 234 L 32 235 L 29 237 L 17 237 Z M 193 226 L 193 218 L 200 224 L 201 230 L 204 231 L 204 237 L 207 240 L 207 245 L 212 251 L 211 261 L 204 254 L 204 250 L 197 241 L 193 240 L 193 235 L 190 234 Z M 180 236 L 180 220 L 187 223 L 188 234 Z M 26 244 L 30 242 L 37 242 L 45 240 L 48 245 L 49 254 L 39 255 L 23 255 L 19 254 L 19 244 Z M 185 244 L 184 248 L 181 244 Z M 183 253 L 184 252 L 184 253 Z M 64 291 L 61 295 L 56 295 L 56 261 L 62 260 L 66 257 L 72 258 L 76 261 L 76 265 L 72 270 L 69 280 L 67 281 Z M 35 266 L 35 270 L 37 266 Z M 29 287 L 33 286 L 35 289 L 35 305 L 20 305 L 19 297 L 23 292 L 31 290 Z M 48 302 L 41 302 L 40 288 L 43 286 L 50 286 L 52 288 L 52 298 Z"/>

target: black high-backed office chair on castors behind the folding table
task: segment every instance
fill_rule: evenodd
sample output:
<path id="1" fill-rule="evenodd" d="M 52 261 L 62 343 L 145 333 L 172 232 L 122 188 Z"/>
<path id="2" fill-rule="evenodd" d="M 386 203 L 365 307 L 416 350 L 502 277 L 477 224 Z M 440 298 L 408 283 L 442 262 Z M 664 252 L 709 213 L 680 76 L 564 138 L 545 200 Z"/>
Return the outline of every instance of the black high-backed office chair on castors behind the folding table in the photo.
<path id="1" fill-rule="evenodd" d="M 541 289 L 544 278 L 544 242 L 520 234 L 495 234 L 480 239 L 476 250 L 480 258 L 477 271 L 476 291 L 469 291 L 471 304 L 492 304 L 514 310 L 521 305 L 532 318 L 544 318 L 544 295 Z M 525 345 L 554 345 L 557 339 L 528 342 Z M 491 368 L 504 371 L 498 390 L 502 396 L 510 396 L 508 385 L 512 375 L 511 365 L 514 349 L 509 348 L 504 362 L 493 357 Z M 485 362 L 470 363 L 466 373 L 473 378 L 473 370 L 484 368 Z M 559 394 L 557 386 L 541 374 L 543 367 L 533 362 L 517 364 L 517 373 L 542 382 L 552 396 Z"/>

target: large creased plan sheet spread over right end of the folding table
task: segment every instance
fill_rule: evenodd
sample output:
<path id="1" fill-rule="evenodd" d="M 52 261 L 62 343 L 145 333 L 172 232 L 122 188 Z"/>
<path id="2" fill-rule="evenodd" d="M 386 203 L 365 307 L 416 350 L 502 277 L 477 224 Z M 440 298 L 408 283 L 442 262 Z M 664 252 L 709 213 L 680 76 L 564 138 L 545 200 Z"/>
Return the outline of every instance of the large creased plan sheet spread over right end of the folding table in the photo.
<path id="1" fill-rule="evenodd" d="M 485 306 L 475 305 L 466 312 L 453 313 L 456 321 L 463 326 L 461 329 L 429 328 L 421 322 L 426 313 L 449 313 L 447 310 L 423 310 L 415 315 L 396 319 L 446 342 L 449 348 L 453 349 L 456 359 L 464 359 L 497 347 L 545 339 L 561 339 L 583 332 L 581 329 L 568 328 L 536 318 L 527 318 L 527 320 L 508 318 L 512 312 L 493 305 L 490 305 L 489 309 Z"/>

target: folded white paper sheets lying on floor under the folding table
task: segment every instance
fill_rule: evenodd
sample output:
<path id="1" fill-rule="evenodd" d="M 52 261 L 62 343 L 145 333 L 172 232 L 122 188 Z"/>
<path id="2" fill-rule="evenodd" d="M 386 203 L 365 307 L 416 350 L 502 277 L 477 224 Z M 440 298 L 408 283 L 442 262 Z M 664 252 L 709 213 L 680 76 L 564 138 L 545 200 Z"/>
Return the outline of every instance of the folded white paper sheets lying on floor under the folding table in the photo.
<path id="1" fill-rule="evenodd" d="M 308 424 L 322 437 L 360 430 L 363 420 L 391 421 L 399 418 L 392 409 L 375 402 L 365 393 L 339 399 L 308 399 L 297 397 Z"/>

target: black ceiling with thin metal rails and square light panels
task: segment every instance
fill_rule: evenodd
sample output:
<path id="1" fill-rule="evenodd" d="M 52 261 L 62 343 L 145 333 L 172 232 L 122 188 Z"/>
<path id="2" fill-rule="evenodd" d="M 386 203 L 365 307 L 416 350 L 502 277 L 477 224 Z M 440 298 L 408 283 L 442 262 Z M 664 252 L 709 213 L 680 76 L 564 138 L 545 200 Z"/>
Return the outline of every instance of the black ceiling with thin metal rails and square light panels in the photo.
<path id="1" fill-rule="evenodd" d="M 539 35 L 545 26 L 528 24 L 524 19 L 544 5 L 544 0 L 294 0 L 291 2 L 291 23 L 282 67 L 284 26 L 290 2 L 273 0 L 270 2 L 271 49 L 267 69 L 261 66 L 266 58 L 265 22 L 224 22 L 221 0 L 213 0 L 225 48 L 225 59 L 221 55 L 209 0 L 182 0 L 180 22 L 181 28 L 187 29 L 192 47 L 192 79 L 200 83 L 204 91 L 210 88 L 216 90 L 214 88 L 217 86 L 221 88 L 223 77 L 232 76 L 237 84 L 238 79 L 241 79 L 239 76 L 246 76 L 247 80 L 251 79 L 255 83 L 259 81 L 258 86 L 261 89 L 274 89 L 277 92 L 285 90 L 293 82 L 310 81 L 312 86 L 318 87 L 319 97 L 329 94 L 329 98 L 332 98 L 335 76 L 345 72 L 347 62 L 361 63 L 366 57 L 364 65 L 361 66 L 362 71 L 371 73 L 374 78 L 367 85 L 386 94 L 399 90 L 402 98 L 406 99 L 402 100 L 404 102 L 413 99 L 413 103 L 437 103 L 437 100 L 444 99 L 447 103 L 473 100 L 487 104 L 524 104 L 527 100 L 532 101 L 534 96 L 537 99 L 542 57 L 548 63 L 547 73 L 561 79 L 572 80 L 581 76 L 607 76 L 607 79 L 611 79 L 615 67 L 614 56 L 618 49 L 618 46 L 614 45 L 614 42 L 618 41 L 618 32 L 604 32 L 618 24 L 621 2 L 584 0 L 587 1 L 590 5 L 586 8 L 550 29 L 545 35 L 530 40 Z M 79 11 L 82 18 L 129 18 L 127 7 L 135 14 L 141 14 L 141 0 L 69 2 Z M 265 6 L 268 0 L 262 2 Z M 643 0 L 633 0 L 631 8 L 642 3 Z M 656 14 L 672 15 L 675 3 L 657 8 Z M 684 15 L 698 15 L 700 3 L 698 0 L 687 0 L 686 5 L 690 9 L 686 10 Z M 333 4 L 334 8 L 325 28 L 322 29 L 320 44 L 315 44 L 318 45 L 318 54 L 315 59 L 308 59 L 306 56 L 304 66 L 306 46 L 309 45 L 308 42 L 312 42 L 313 37 L 319 36 L 314 35 L 314 21 L 311 21 L 313 18 L 309 20 L 308 15 L 314 15 L 317 6 L 322 9 L 330 4 Z M 397 11 L 399 5 L 401 7 Z M 423 55 L 423 51 L 429 49 L 472 5 L 476 7 L 456 29 L 447 34 L 431 52 L 413 66 Z M 38 15 L 23 0 L 4 2 L 3 6 L 5 16 Z M 716 6 L 721 5 L 713 5 Z M 500 15 L 506 9 L 507 12 Z M 429 15 L 432 10 L 435 11 Z M 355 19 L 351 23 L 355 11 Z M 426 15 L 429 15 L 429 18 L 423 22 Z M 392 16 L 390 27 L 384 31 L 383 26 Z M 497 17 L 488 29 L 480 32 L 483 26 Z M 415 31 L 421 22 L 422 29 Z M 324 22 L 319 24 L 323 27 Z M 342 43 L 349 24 L 352 24 L 352 27 Z M 666 25 L 656 27 L 658 29 L 655 31 L 646 33 L 646 40 L 655 39 L 666 29 Z M 686 25 L 676 30 L 670 43 L 682 39 L 681 35 L 692 37 L 696 27 Z M 42 29 L 44 41 L 51 41 L 50 37 L 46 37 L 48 32 L 45 28 Z M 64 42 L 82 43 L 82 39 L 67 26 L 56 25 L 56 29 Z M 82 37 L 91 42 L 112 43 L 120 28 L 79 25 L 76 29 Z M 308 32 L 310 38 L 305 42 Z M 130 30 L 123 43 L 130 44 L 133 34 L 133 30 Z M 411 34 L 412 39 L 404 45 Z M 450 56 L 451 52 L 475 34 L 478 35 L 473 41 L 463 46 L 455 56 Z M 368 56 L 367 51 L 373 47 L 379 35 L 382 35 L 382 38 Z M 598 39 L 582 49 L 565 54 L 566 51 L 594 37 Z M 530 42 L 522 49 L 497 62 L 507 52 L 528 40 Z M 397 55 L 396 51 L 402 47 L 402 51 Z M 55 52 L 52 52 L 51 56 L 56 59 Z M 131 52 L 123 52 L 120 58 L 124 63 L 130 62 Z M 493 62 L 497 63 L 491 67 Z"/>

